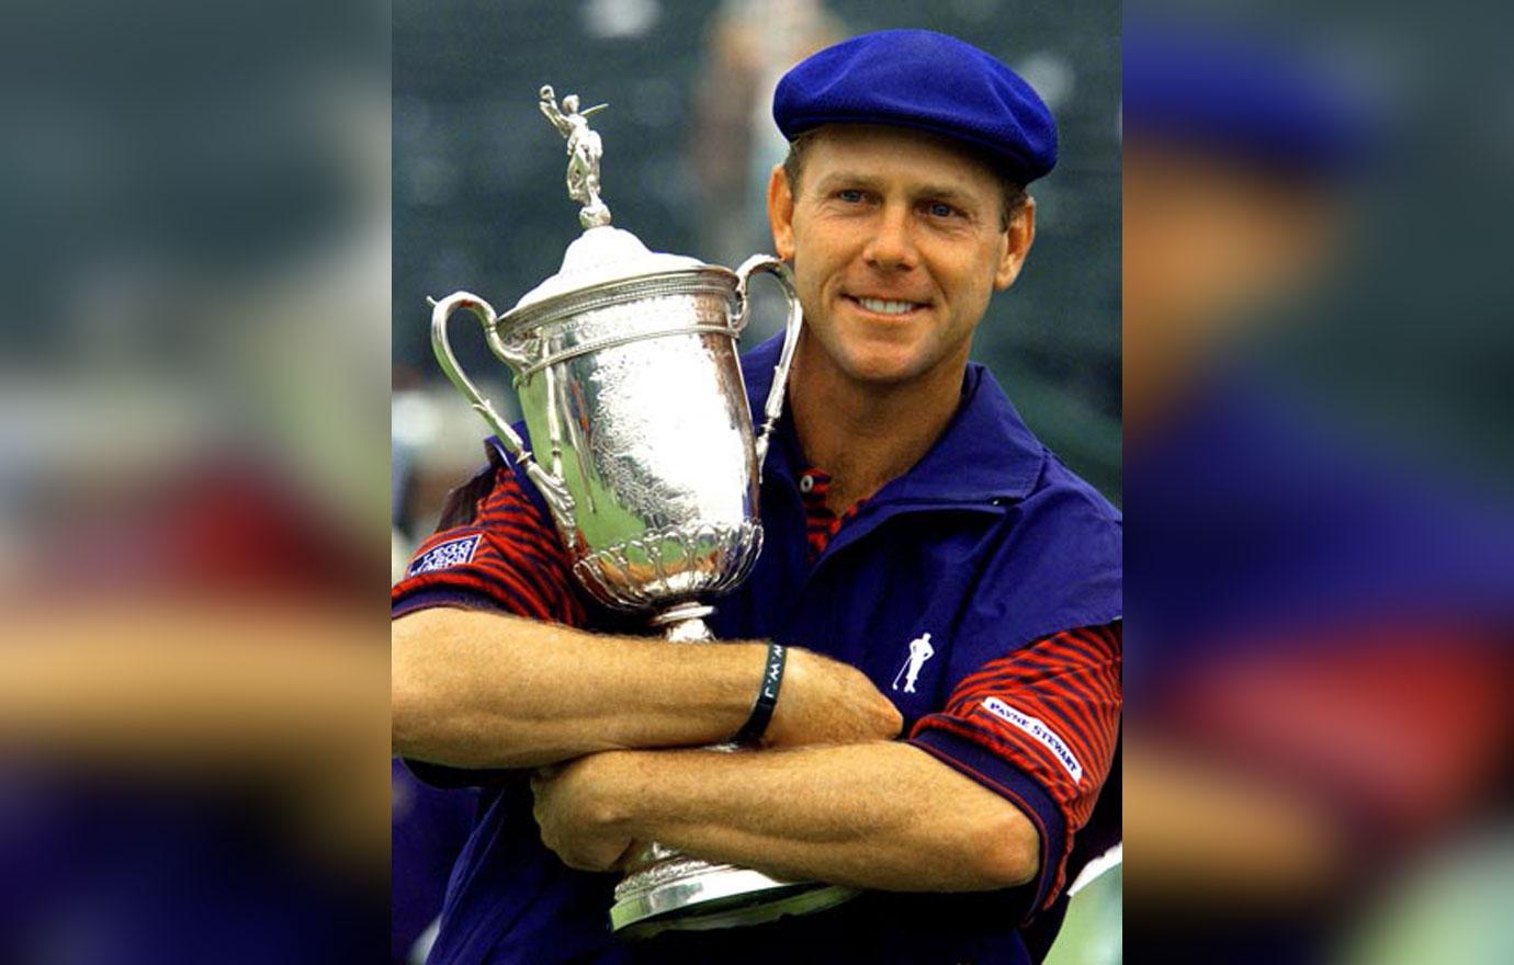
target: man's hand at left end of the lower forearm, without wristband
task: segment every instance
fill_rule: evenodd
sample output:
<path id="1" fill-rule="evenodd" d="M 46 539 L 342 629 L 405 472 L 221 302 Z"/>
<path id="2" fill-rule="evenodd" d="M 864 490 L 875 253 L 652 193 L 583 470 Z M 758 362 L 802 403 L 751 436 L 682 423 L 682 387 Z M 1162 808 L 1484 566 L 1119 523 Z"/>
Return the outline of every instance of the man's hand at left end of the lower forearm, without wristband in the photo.
<path id="1" fill-rule="evenodd" d="M 531 777 L 542 842 L 569 868 L 613 871 L 636 847 L 613 803 L 621 756 L 624 752 L 592 753 L 544 767 Z"/>

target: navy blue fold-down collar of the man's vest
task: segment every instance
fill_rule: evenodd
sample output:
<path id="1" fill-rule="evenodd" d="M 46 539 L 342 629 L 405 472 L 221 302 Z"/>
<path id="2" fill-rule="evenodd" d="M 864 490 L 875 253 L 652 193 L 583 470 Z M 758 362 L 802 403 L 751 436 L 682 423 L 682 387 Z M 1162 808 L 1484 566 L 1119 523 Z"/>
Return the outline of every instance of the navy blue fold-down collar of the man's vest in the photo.
<path id="1" fill-rule="evenodd" d="M 746 395 L 759 425 L 781 343 L 780 334 L 742 358 Z M 969 363 L 963 374 L 961 404 L 946 431 L 919 463 L 887 482 L 868 504 L 1007 505 L 1034 489 L 1046 458 L 1045 446 L 1014 411 L 993 375 L 981 365 Z M 793 419 L 784 407 L 763 475 L 784 479 L 796 489 L 796 475 L 804 467 Z"/>

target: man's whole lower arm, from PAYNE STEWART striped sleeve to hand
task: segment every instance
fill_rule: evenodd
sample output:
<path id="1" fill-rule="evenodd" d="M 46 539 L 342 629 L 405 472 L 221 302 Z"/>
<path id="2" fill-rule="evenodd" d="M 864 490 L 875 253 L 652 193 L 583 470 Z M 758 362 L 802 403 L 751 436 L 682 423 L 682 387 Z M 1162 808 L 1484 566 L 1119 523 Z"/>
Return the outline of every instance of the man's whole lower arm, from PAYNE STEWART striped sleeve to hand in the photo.
<path id="1" fill-rule="evenodd" d="M 901 891 L 1064 885 L 1119 732 L 1117 623 L 1045 637 L 967 675 L 910 743 L 604 753 L 534 782 L 542 839 L 609 868 L 633 839 L 780 877 Z M 780 700 L 781 706 L 781 700 Z"/>

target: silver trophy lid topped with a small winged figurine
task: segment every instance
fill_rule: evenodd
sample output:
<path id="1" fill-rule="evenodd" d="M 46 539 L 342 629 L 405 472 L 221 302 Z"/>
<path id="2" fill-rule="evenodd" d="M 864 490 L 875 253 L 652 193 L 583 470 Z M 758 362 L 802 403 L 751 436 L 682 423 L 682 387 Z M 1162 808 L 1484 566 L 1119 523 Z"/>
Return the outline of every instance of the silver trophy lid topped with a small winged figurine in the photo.
<path id="1" fill-rule="evenodd" d="M 590 113 L 606 107 L 606 104 L 578 110 L 578 95 L 569 94 L 559 106 L 557 94 L 551 86 L 544 86 L 539 97 L 542 113 L 568 139 L 568 197 L 583 204 L 578 212 L 578 224 L 583 225 L 584 231 L 574 244 L 568 245 L 557 274 L 522 295 L 510 315 L 551 298 L 603 284 L 707 268 L 698 259 L 650 251 L 630 231 L 610 227 L 610 209 L 600 200 L 600 157 L 604 148 L 600 135 L 589 127 L 587 121 Z"/>

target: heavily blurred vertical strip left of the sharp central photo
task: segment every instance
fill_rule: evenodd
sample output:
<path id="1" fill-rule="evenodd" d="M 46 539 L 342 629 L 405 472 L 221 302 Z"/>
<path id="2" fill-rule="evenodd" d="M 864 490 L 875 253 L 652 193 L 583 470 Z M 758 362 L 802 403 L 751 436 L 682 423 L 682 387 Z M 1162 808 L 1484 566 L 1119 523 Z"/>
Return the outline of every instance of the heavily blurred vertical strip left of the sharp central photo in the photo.
<path id="1" fill-rule="evenodd" d="M 385 956 L 388 50 L 6 5 L 0 962 Z"/>

